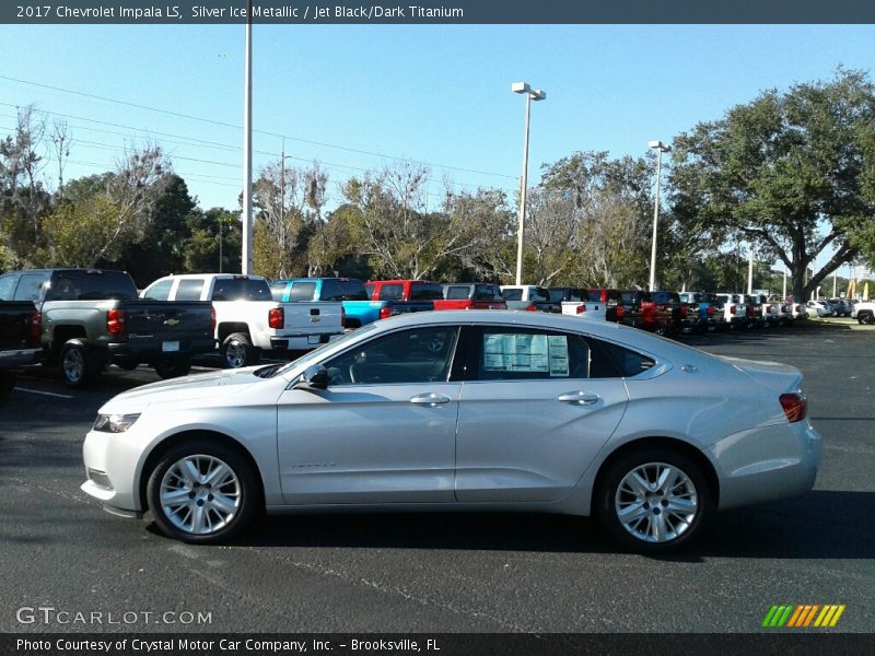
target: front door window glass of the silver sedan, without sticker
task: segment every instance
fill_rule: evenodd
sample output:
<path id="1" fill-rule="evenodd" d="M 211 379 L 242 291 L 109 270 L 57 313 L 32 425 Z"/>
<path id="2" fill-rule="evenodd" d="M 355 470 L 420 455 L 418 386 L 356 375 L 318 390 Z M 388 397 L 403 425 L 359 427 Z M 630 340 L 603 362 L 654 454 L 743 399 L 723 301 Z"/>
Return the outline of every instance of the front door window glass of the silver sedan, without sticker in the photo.
<path id="1" fill-rule="evenodd" d="M 325 363 L 331 386 L 444 382 L 450 377 L 456 326 L 385 335 Z"/>

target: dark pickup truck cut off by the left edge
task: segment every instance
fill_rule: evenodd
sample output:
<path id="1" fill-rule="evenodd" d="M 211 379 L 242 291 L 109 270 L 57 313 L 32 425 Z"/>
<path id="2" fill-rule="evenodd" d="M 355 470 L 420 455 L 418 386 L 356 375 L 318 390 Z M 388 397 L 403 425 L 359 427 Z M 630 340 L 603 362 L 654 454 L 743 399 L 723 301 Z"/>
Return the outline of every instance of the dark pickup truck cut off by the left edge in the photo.
<path id="1" fill-rule="evenodd" d="M 9 290 L 12 296 L 14 290 Z M 37 362 L 39 344 L 39 313 L 31 301 L 5 300 L 0 290 L 0 399 L 15 387 L 15 368 Z"/>

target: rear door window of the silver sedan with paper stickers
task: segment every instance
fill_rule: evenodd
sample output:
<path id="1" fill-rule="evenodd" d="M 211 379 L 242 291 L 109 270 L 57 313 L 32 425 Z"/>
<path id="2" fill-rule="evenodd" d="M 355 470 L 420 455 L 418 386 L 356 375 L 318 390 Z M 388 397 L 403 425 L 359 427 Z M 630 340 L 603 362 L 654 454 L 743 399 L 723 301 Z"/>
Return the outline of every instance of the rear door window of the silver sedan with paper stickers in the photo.
<path id="1" fill-rule="evenodd" d="M 478 380 L 586 378 L 590 347 L 582 336 L 535 328 L 475 331 Z"/>

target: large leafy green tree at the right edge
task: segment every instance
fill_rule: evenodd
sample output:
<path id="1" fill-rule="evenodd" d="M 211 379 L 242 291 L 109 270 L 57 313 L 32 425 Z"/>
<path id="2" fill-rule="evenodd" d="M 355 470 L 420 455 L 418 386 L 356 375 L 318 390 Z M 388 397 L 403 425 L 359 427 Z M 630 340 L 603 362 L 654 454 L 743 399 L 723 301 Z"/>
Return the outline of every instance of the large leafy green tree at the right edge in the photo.
<path id="1" fill-rule="evenodd" d="M 771 90 L 675 139 L 673 214 L 709 246 L 746 239 L 804 298 L 875 236 L 875 94 L 867 74 Z M 867 237 L 868 236 L 868 237 Z M 829 261 L 807 280 L 818 254 Z"/>

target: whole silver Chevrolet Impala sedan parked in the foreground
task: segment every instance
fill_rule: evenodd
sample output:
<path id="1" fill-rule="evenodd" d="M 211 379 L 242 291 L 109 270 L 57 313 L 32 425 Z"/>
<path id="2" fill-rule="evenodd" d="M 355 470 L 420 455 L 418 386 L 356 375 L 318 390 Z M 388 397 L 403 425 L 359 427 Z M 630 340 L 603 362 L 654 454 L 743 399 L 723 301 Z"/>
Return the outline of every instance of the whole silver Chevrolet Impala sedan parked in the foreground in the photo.
<path id="1" fill-rule="evenodd" d="M 82 489 L 168 536 L 269 513 L 595 515 L 663 552 L 718 508 L 812 489 L 802 374 L 528 312 L 378 321 L 284 365 L 147 385 L 101 410 Z"/>

